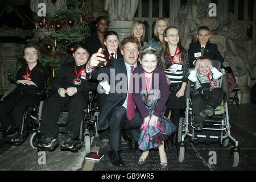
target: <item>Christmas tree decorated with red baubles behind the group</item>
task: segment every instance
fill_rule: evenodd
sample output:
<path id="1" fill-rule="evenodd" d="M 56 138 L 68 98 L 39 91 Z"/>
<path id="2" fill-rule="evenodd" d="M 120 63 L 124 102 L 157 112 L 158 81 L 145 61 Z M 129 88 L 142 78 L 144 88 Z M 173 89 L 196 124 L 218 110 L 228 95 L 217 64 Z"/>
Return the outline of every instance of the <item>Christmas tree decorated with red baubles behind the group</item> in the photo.
<path id="1" fill-rule="evenodd" d="M 60 57 L 72 54 L 75 44 L 85 42 L 86 36 L 90 34 L 90 22 L 94 18 L 88 13 L 88 7 L 88 0 L 67 0 L 67 9 L 61 7 L 52 16 L 46 14 L 46 17 L 34 18 L 36 31 L 52 30 L 51 34 L 44 34 L 43 39 L 27 40 L 28 45 L 38 46 L 43 64 L 51 68 L 52 73 L 48 80 L 50 85 L 52 78 L 59 71 Z M 15 75 L 11 73 L 9 80 L 15 80 Z"/>

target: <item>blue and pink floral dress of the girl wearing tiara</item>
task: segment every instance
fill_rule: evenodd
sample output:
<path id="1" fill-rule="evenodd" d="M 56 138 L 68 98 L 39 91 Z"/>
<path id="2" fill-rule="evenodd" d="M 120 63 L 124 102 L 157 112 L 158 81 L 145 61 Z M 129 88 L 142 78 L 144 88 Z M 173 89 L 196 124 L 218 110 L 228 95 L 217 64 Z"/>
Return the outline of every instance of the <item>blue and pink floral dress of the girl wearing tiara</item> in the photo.
<path id="1" fill-rule="evenodd" d="M 160 99 L 160 90 L 150 90 L 148 101 L 146 101 L 147 92 L 141 91 L 142 101 L 146 105 L 150 117 L 154 113 L 155 107 L 158 105 Z M 155 126 L 149 126 L 148 123 L 142 121 L 141 135 L 139 136 L 138 144 L 139 149 L 142 151 L 150 150 L 151 148 L 157 148 L 162 141 L 168 139 L 173 133 L 175 133 L 176 126 L 171 122 L 170 119 L 163 116 L 164 111 L 160 114 L 158 122 Z"/>

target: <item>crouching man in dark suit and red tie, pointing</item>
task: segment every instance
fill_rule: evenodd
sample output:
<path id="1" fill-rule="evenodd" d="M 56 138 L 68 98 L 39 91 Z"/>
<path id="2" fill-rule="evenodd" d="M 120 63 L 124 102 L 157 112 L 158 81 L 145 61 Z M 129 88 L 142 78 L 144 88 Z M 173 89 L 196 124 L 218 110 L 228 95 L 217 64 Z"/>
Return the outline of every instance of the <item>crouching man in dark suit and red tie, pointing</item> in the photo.
<path id="1" fill-rule="evenodd" d="M 101 76 L 105 76 L 105 79 L 109 80 L 110 92 L 102 107 L 98 130 L 105 130 L 109 127 L 109 159 L 115 166 L 125 165 L 120 155 L 122 131 L 131 130 L 136 141 L 139 137 L 141 118 L 138 111 L 135 110 L 128 90 L 131 89 L 130 85 L 133 85 L 130 82 L 132 80 L 130 77 L 133 69 L 137 67 L 140 47 L 139 41 L 133 36 L 129 36 L 121 42 L 123 59 L 110 59 L 105 67 L 94 69 L 101 61 L 105 61 L 100 48 L 97 53 L 92 55 L 86 66 L 86 72 L 91 72 L 93 79 L 102 80 Z"/>

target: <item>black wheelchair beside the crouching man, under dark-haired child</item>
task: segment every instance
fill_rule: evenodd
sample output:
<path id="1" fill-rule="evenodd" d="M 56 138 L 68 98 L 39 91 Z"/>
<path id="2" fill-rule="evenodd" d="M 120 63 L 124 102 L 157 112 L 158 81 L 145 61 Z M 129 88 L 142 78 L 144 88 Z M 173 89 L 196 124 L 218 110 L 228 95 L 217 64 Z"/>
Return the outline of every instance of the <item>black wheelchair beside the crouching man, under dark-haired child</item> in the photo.
<path id="1" fill-rule="evenodd" d="M 61 67 L 63 67 L 64 64 L 67 64 L 71 61 L 75 61 L 73 57 L 62 56 L 60 69 Z M 88 88 L 89 89 L 88 105 L 84 108 L 84 117 L 82 118 L 82 121 L 80 123 L 79 137 L 77 138 L 77 140 L 75 140 L 74 147 L 67 149 L 67 148 L 64 148 L 63 146 L 60 146 L 60 150 L 63 150 L 63 151 L 71 150 L 72 152 L 76 152 L 81 147 L 84 147 L 84 150 L 86 151 L 86 153 L 90 152 L 90 145 L 92 144 L 92 138 L 98 137 L 97 123 L 98 123 L 100 111 L 98 109 L 98 106 L 95 105 L 97 100 L 96 86 L 97 86 L 96 83 L 92 83 L 92 88 Z M 41 116 L 42 114 L 39 114 L 39 115 Z M 57 125 L 59 125 L 59 133 L 65 133 L 65 126 L 67 125 L 67 117 L 68 117 L 68 107 L 65 106 L 61 108 L 61 112 L 57 120 Z M 39 151 L 46 150 L 46 148 L 41 148 L 39 146 L 40 139 L 41 139 L 41 136 L 39 131 L 34 131 L 34 133 L 31 135 L 31 138 L 30 138 L 31 147 L 38 148 Z M 57 146 L 55 146 L 54 148 L 49 147 L 47 148 L 47 150 L 53 151 L 55 150 L 55 148 L 57 148 Z"/>

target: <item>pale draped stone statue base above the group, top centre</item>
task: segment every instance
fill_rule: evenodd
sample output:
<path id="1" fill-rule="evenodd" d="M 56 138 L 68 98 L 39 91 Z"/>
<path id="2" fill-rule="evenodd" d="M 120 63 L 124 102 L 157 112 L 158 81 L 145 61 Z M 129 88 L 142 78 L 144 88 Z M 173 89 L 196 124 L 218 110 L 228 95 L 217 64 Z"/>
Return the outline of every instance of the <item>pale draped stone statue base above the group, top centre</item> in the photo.
<path id="1" fill-rule="evenodd" d="M 106 0 L 104 9 L 108 11 L 111 22 L 133 21 L 138 3 L 138 0 Z"/>

